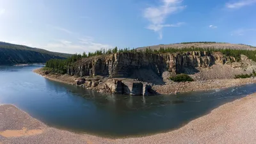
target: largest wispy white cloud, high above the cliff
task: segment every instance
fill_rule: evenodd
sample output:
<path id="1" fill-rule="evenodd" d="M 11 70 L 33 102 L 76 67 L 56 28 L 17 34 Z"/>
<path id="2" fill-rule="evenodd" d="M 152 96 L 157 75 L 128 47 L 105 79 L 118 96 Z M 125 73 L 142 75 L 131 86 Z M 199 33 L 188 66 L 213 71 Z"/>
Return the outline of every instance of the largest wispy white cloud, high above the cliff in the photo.
<path id="1" fill-rule="evenodd" d="M 186 6 L 182 5 L 182 0 L 161 0 L 160 3 L 159 6 L 145 8 L 143 17 L 150 22 L 147 29 L 156 31 L 159 34 L 159 38 L 162 39 L 162 29 L 164 27 L 178 27 L 184 24 L 184 22 L 164 24 L 166 18 L 175 12 L 183 10 Z"/>

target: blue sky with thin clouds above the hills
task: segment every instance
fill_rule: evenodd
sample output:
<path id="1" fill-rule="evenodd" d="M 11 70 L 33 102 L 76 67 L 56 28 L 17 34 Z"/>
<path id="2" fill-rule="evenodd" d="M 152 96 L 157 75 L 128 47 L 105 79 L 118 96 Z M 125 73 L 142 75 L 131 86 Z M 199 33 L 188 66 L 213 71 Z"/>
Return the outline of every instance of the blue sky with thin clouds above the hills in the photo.
<path id="1" fill-rule="evenodd" d="M 256 46 L 256 0 L 0 0 L 0 41 L 81 53 L 179 42 Z"/>

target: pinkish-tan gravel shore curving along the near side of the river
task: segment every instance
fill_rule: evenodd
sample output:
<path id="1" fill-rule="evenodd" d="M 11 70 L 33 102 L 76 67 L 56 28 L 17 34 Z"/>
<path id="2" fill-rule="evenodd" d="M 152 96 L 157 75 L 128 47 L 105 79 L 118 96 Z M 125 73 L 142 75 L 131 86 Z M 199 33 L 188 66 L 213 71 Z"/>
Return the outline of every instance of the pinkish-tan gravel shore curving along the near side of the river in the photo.
<path id="1" fill-rule="evenodd" d="M 0 143 L 255 143 L 255 109 L 256 93 L 253 93 L 175 131 L 113 140 L 47 127 L 28 113 L 5 104 L 0 106 Z"/>

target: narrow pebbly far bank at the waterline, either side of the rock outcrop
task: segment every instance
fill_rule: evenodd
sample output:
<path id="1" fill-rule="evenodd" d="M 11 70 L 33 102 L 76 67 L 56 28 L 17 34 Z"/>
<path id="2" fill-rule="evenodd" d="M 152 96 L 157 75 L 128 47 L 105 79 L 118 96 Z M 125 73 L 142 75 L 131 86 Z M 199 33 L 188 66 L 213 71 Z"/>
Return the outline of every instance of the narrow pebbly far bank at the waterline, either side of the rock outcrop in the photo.
<path id="1" fill-rule="evenodd" d="M 67 74 L 45 74 L 42 68 L 37 68 L 33 70 L 33 72 L 44 76 L 47 79 L 51 79 L 52 81 L 58 81 L 61 83 L 67 84 L 76 84 L 75 79 L 77 77 L 69 76 Z M 212 79 L 208 81 L 192 81 L 186 83 L 175 83 L 168 81 L 166 84 L 163 85 L 154 85 L 152 89 L 155 90 L 159 94 L 170 94 L 175 92 L 195 92 L 195 91 L 203 91 L 203 90 L 213 90 L 213 89 L 220 89 L 220 88 L 229 88 L 233 86 L 242 86 L 245 84 L 252 84 L 256 83 L 256 78 L 246 78 L 246 79 Z M 104 91 L 104 83 L 99 86 L 89 86 L 86 87 L 88 89 L 96 90 L 97 92 Z M 108 91 L 109 92 L 109 91 Z"/>

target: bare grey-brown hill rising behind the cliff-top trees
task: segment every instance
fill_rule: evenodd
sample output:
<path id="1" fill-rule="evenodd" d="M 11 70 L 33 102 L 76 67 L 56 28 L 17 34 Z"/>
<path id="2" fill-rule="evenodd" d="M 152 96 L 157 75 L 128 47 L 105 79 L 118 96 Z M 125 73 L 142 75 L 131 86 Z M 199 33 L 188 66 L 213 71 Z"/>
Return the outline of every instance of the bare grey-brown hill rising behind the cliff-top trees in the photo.
<path id="1" fill-rule="evenodd" d="M 245 49 L 245 50 L 256 50 L 256 47 L 252 45 L 244 45 L 244 44 L 228 44 L 223 42 L 183 42 L 179 44 L 160 44 L 160 45 L 152 45 L 147 47 L 138 47 L 137 50 L 144 50 L 147 48 L 150 49 L 160 49 L 160 47 L 172 47 L 177 49 L 182 49 L 185 47 L 200 47 L 200 48 L 214 48 L 214 49 Z"/>

